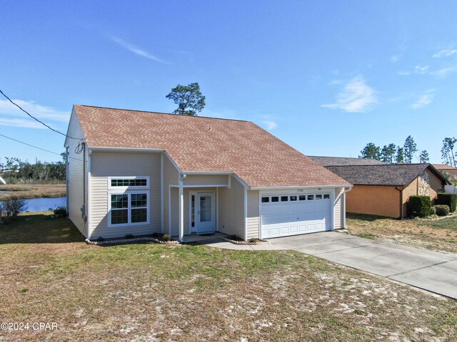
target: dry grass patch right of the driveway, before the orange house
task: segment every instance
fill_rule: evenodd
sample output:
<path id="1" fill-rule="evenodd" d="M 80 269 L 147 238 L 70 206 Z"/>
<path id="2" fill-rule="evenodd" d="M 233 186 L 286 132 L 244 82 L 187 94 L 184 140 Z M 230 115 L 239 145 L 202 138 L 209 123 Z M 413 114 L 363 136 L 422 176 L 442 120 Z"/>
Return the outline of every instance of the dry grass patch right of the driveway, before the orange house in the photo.
<path id="1" fill-rule="evenodd" d="M 437 220 L 391 219 L 366 214 L 347 214 L 350 234 L 398 244 L 457 253 L 457 217 Z"/>

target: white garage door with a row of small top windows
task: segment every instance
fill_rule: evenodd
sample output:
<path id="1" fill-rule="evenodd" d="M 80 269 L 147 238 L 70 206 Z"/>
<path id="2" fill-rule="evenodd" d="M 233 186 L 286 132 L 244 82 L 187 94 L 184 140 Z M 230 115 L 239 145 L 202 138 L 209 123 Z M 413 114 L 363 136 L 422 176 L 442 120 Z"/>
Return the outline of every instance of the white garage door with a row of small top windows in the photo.
<path id="1" fill-rule="evenodd" d="M 330 194 L 261 196 L 261 238 L 331 230 Z"/>

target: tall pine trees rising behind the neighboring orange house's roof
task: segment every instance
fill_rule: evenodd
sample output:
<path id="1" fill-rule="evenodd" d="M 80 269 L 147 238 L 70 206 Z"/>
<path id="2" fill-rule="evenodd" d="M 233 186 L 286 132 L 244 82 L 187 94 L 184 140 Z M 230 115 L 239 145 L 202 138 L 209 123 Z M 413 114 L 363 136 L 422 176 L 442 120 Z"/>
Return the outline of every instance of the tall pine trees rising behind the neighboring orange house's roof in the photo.
<path id="1" fill-rule="evenodd" d="M 446 165 L 457 167 L 456 157 L 457 152 L 454 152 L 454 146 L 457 142 L 456 138 L 444 138 L 443 147 L 441 148 L 441 158 Z M 413 157 L 418 152 L 416 142 L 414 142 L 411 135 L 406 138 L 402 145 L 395 145 L 393 143 L 381 146 L 376 146 L 373 142 L 368 142 L 359 158 L 376 159 L 386 164 L 393 164 L 394 162 L 413 162 Z M 427 150 L 421 150 L 419 155 L 419 162 L 430 162 Z"/>

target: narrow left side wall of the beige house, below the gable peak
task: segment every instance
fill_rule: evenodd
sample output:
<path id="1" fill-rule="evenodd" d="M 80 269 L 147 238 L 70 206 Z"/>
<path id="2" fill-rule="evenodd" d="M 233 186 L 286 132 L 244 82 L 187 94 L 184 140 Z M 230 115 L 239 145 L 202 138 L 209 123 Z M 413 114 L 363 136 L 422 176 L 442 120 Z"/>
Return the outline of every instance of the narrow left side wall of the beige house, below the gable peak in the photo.
<path id="1" fill-rule="evenodd" d="M 75 112 L 71 114 L 67 134 L 73 138 L 84 138 L 84 133 Z M 65 147 L 68 147 L 69 149 L 69 163 L 66 175 L 68 193 L 66 195 L 69 204 L 69 218 L 79 231 L 87 237 L 86 224 L 84 222 L 83 214 L 81 213 L 81 207 L 84 204 L 84 154 L 76 153 L 76 147 L 78 147 L 80 142 L 80 140 L 71 138 L 66 139 Z"/>

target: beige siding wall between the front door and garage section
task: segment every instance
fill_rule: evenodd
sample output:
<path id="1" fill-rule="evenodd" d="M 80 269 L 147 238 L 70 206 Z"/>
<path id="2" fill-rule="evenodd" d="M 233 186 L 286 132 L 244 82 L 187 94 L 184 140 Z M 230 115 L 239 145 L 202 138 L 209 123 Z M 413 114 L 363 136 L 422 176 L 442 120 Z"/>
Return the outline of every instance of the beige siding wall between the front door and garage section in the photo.
<path id="1" fill-rule="evenodd" d="M 231 176 L 231 187 L 219 189 L 219 231 L 244 238 L 244 187 Z"/>

